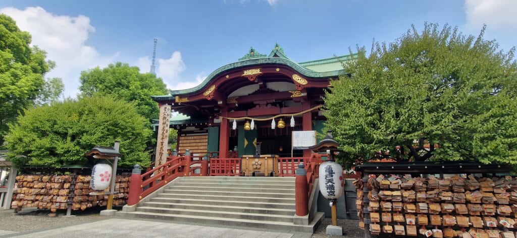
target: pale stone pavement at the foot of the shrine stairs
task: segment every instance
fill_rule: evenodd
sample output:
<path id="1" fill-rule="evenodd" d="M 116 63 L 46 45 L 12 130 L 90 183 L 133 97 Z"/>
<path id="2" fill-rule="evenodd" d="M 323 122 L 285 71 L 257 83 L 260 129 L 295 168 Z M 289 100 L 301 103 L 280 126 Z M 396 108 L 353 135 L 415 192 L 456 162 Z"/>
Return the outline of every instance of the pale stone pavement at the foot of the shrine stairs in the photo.
<path id="1" fill-rule="evenodd" d="M 218 238 L 310 238 L 310 233 L 251 230 L 247 228 L 208 227 L 187 224 L 160 222 L 156 220 L 135 220 L 112 218 L 99 222 L 85 223 L 33 232 L 12 232 L 0 230 L 0 237 L 117 237 L 117 238 L 143 238 L 143 237 L 218 237 Z"/>

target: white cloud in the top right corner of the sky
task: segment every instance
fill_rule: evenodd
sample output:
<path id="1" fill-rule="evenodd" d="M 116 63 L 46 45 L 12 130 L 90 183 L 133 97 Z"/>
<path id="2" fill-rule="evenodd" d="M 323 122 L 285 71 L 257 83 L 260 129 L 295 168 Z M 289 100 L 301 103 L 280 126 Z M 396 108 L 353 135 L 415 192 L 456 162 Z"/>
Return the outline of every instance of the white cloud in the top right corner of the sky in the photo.
<path id="1" fill-rule="evenodd" d="M 465 0 L 467 27 L 517 31 L 517 1 L 515 0 Z"/>

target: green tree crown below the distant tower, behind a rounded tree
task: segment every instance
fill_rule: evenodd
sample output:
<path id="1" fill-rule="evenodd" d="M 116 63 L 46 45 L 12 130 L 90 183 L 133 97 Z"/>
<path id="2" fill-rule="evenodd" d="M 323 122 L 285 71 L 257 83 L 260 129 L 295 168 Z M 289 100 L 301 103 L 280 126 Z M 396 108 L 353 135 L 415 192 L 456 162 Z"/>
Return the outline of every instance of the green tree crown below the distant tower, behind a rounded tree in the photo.
<path id="1" fill-rule="evenodd" d="M 150 73 L 142 74 L 138 67 L 120 62 L 103 69 L 96 67 L 83 71 L 80 81 L 79 90 L 82 96 L 113 95 L 133 102 L 138 113 L 149 121 L 158 118 L 160 111 L 158 104 L 150 96 L 168 93 L 161 78 Z"/>

